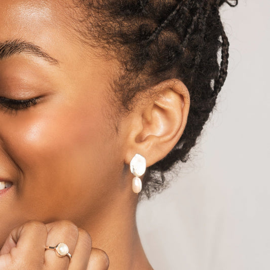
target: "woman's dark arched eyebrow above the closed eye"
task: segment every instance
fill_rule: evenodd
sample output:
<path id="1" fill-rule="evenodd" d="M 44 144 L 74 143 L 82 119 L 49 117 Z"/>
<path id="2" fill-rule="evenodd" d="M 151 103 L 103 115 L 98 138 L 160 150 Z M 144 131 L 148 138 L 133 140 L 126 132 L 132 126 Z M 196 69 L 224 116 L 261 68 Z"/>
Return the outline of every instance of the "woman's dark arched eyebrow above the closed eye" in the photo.
<path id="1" fill-rule="evenodd" d="M 33 43 L 20 40 L 9 40 L 5 42 L 0 42 L 0 60 L 7 59 L 12 55 L 20 53 L 28 53 L 37 57 L 41 57 L 50 64 L 59 64 L 58 60 L 50 56 L 48 53 L 44 52 L 41 47 L 34 45 Z"/>

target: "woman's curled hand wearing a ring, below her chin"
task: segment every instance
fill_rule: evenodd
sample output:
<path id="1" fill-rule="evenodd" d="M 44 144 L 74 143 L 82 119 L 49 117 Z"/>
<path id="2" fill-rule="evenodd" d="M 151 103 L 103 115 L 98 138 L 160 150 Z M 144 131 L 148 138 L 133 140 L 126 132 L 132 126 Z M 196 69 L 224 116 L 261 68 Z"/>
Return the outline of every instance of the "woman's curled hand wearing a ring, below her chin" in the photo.
<path id="1" fill-rule="evenodd" d="M 72 259 L 58 257 L 58 243 L 68 246 Z M 0 269 L 3 270 L 107 270 L 109 259 L 101 250 L 92 248 L 90 235 L 68 220 L 44 224 L 28 221 L 12 230 L 0 250 Z"/>

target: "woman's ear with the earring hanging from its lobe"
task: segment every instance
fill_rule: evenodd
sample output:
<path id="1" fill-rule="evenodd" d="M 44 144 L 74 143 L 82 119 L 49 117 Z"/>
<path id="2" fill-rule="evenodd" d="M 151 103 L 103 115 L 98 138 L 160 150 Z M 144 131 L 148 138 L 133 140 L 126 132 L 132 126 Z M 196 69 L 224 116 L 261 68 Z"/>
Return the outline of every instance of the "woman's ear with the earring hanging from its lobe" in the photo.
<path id="1" fill-rule="evenodd" d="M 152 92 L 153 91 L 153 92 Z M 163 81 L 151 89 L 151 98 L 138 98 L 125 119 L 125 163 L 139 153 L 149 167 L 163 159 L 180 139 L 186 126 L 190 98 L 177 79 Z"/>

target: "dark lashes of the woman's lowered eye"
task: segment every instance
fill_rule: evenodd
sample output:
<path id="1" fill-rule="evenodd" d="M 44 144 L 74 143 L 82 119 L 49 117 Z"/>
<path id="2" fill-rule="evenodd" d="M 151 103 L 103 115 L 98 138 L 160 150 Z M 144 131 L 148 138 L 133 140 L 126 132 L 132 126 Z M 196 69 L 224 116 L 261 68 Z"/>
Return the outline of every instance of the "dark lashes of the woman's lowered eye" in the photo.
<path id="1" fill-rule="evenodd" d="M 20 109 L 26 109 L 32 105 L 35 105 L 37 100 L 39 100 L 41 97 L 35 97 L 31 99 L 9 99 L 5 97 L 0 97 L 0 104 L 1 106 L 7 108 L 10 111 L 17 111 Z"/>

